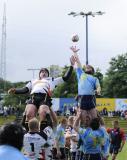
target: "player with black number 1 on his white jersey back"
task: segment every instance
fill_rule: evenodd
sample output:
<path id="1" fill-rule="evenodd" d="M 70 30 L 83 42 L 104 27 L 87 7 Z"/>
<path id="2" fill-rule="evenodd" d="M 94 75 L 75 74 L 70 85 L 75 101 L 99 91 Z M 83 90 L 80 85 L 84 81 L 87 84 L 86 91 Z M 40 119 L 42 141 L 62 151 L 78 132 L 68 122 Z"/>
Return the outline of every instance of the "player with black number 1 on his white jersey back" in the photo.
<path id="1" fill-rule="evenodd" d="M 39 121 L 33 118 L 28 123 L 29 132 L 24 135 L 23 152 L 31 160 L 51 160 L 51 152 L 47 153 L 48 138 L 52 135 L 52 128 L 46 127 L 39 132 Z"/>

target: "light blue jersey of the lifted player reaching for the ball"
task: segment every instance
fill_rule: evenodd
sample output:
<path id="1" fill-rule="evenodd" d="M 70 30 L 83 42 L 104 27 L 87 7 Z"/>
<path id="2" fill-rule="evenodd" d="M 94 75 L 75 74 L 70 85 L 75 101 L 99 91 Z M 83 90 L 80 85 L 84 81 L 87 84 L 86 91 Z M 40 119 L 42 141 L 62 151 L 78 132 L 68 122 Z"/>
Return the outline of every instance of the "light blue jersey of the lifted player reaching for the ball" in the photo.
<path id="1" fill-rule="evenodd" d="M 76 69 L 78 79 L 78 95 L 94 95 L 95 90 L 100 86 L 99 80 L 86 74 L 81 68 Z"/>

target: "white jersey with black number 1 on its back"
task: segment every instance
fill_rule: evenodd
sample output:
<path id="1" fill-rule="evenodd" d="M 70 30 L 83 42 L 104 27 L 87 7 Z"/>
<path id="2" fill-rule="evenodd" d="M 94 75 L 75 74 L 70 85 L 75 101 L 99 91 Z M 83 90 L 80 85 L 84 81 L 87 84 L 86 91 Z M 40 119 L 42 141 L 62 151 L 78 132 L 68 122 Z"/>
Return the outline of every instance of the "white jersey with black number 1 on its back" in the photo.
<path id="1" fill-rule="evenodd" d="M 38 158 L 42 156 L 42 150 L 44 152 L 47 150 L 47 148 L 45 148 L 45 145 L 48 142 L 47 140 L 51 137 L 53 130 L 48 126 L 43 130 L 43 132 L 47 136 L 47 139 L 45 139 L 43 134 L 41 134 L 40 132 L 26 133 L 24 135 L 23 152 L 26 157 L 30 158 L 31 160 L 38 160 Z M 45 157 L 47 157 L 46 154 L 47 153 L 44 154 Z"/>

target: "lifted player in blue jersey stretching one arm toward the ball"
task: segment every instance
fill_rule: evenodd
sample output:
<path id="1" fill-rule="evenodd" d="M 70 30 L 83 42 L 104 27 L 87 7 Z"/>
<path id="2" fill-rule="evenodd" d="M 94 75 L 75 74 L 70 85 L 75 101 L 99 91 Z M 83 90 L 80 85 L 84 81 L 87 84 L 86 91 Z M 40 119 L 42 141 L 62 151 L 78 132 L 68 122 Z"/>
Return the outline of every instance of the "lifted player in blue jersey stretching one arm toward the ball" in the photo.
<path id="1" fill-rule="evenodd" d="M 82 120 L 88 115 L 91 119 L 97 117 L 96 112 L 96 96 L 100 94 L 101 87 L 98 78 L 94 77 L 94 68 L 91 65 L 86 65 L 82 68 L 77 52 L 79 49 L 71 47 L 74 53 L 76 74 L 78 80 L 78 104 L 82 112 Z M 85 69 L 85 71 L 84 71 Z"/>

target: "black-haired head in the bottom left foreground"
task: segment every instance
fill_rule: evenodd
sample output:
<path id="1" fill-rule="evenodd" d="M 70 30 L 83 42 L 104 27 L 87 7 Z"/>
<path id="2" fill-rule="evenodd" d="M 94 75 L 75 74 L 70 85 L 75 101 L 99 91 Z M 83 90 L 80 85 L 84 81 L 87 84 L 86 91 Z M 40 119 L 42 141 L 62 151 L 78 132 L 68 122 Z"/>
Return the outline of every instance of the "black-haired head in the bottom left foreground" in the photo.
<path id="1" fill-rule="evenodd" d="M 19 150 L 23 146 L 24 131 L 21 125 L 11 122 L 0 128 L 0 145 L 10 145 Z"/>

